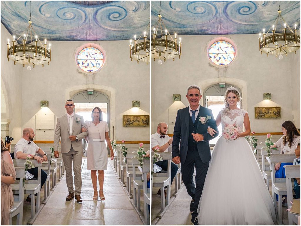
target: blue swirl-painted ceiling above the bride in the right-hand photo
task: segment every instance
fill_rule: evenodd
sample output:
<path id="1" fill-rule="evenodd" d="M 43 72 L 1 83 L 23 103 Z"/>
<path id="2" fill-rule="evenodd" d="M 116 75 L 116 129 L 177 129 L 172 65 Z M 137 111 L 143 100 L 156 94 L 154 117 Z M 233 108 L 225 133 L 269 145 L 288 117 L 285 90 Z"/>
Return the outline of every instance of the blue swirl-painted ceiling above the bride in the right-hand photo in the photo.
<path id="1" fill-rule="evenodd" d="M 159 8 L 159 1 L 151 1 L 152 24 Z M 164 24 L 169 32 L 182 35 L 262 33 L 272 27 L 278 8 L 278 1 L 161 1 Z M 299 29 L 300 1 L 280 1 L 280 9 L 287 24 Z"/>

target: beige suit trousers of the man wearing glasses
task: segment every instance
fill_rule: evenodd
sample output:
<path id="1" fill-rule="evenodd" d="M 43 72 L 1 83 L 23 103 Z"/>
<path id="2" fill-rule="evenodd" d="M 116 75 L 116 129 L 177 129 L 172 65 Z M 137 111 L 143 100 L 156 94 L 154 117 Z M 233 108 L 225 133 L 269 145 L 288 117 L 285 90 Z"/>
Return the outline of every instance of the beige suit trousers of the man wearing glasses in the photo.
<path id="1" fill-rule="evenodd" d="M 70 151 L 67 153 L 62 153 L 62 157 L 66 170 L 66 182 L 68 191 L 74 193 L 75 195 L 80 195 L 80 192 L 82 190 L 82 151 L 74 151 L 71 145 Z M 73 188 L 72 163 L 75 190 Z"/>

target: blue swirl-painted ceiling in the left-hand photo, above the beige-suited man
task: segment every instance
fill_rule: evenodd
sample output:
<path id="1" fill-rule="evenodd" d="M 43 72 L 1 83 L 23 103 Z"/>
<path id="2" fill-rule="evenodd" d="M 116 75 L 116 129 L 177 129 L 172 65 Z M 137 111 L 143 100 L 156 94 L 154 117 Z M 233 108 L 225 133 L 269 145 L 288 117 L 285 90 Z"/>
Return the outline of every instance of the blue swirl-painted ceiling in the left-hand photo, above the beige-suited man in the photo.
<path id="1" fill-rule="evenodd" d="M 150 1 L 32 1 L 31 21 L 43 39 L 129 40 L 144 32 Z M 30 1 L 1 1 L 1 23 L 19 36 L 28 26 Z"/>

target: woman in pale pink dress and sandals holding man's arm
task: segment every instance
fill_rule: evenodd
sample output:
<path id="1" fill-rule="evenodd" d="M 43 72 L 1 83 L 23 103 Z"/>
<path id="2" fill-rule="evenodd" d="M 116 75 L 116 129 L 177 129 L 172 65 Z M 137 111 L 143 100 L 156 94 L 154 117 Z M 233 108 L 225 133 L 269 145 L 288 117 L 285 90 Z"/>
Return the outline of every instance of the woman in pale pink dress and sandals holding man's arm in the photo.
<path id="1" fill-rule="evenodd" d="M 109 127 L 106 121 L 102 120 L 102 111 L 99 107 L 95 107 L 91 113 L 92 121 L 87 123 L 88 142 L 87 149 L 87 169 L 91 170 L 91 179 L 94 189 L 93 200 L 98 199 L 97 193 L 97 174 L 99 182 L 99 197 L 105 200 L 103 187 L 104 187 L 104 170 L 107 170 L 108 154 L 107 145 L 110 148 L 111 159 L 114 158 L 113 148 L 109 137 Z"/>

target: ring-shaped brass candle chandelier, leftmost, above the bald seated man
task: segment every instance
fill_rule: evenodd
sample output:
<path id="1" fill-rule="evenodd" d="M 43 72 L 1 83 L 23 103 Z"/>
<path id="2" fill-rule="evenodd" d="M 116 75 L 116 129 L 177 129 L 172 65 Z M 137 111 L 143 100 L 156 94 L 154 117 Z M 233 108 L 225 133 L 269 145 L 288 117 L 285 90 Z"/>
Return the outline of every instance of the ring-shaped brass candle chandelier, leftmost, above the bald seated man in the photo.
<path id="1" fill-rule="evenodd" d="M 33 68 L 36 65 L 42 65 L 44 67 L 45 63 L 50 63 L 51 61 L 51 44 L 47 49 L 47 40 L 45 39 L 45 44 L 39 40 L 35 30 L 32 26 L 31 21 L 31 1 L 30 1 L 30 18 L 28 21 L 29 25 L 22 32 L 22 34 L 15 40 L 13 36 L 12 45 L 8 39 L 7 44 L 7 58 L 8 61 L 11 59 L 14 61 L 14 64 L 19 63 L 27 66 L 27 70 L 31 70 L 31 65 Z M 21 41 L 21 37 L 23 40 Z M 18 42 L 19 41 L 19 42 Z"/>

